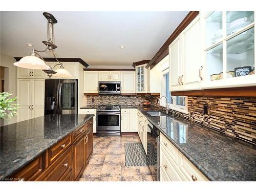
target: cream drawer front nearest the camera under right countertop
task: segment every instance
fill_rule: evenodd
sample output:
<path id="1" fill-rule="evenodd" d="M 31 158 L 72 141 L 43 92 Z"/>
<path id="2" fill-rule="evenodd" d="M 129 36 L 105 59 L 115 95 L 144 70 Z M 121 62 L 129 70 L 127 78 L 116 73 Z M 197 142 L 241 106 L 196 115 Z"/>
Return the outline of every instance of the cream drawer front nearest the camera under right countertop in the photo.
<path id="1" fill-rule="evenodd" d="M 182 174 L 188 181 L 208 181 L 208 179 L 191 163 L 183 154 L 179 152 L 179 167 Z"/>

